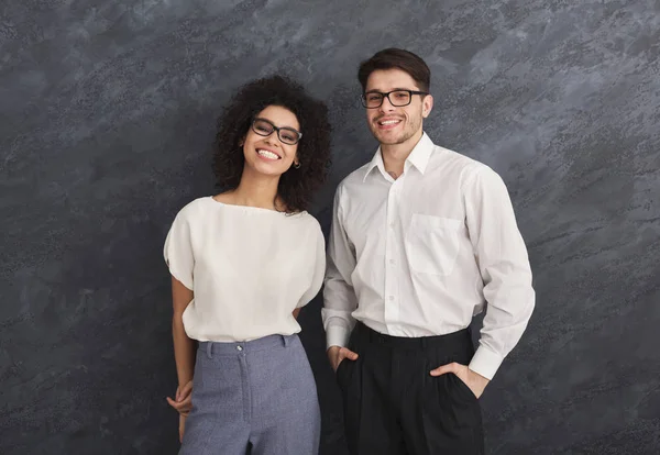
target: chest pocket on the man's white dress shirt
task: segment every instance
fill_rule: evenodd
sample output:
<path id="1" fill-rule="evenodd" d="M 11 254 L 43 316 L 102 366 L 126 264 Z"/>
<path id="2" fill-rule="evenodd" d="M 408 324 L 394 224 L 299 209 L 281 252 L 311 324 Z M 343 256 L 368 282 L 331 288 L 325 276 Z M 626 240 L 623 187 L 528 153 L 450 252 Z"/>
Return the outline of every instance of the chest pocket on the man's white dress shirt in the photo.
<path id="1" fill-rule="evenodd" d="M 462 229 L 460 220 L 413 214 L 406 236 L 410 269 L 421 274 L 451 275 L 461 246 Z"/>

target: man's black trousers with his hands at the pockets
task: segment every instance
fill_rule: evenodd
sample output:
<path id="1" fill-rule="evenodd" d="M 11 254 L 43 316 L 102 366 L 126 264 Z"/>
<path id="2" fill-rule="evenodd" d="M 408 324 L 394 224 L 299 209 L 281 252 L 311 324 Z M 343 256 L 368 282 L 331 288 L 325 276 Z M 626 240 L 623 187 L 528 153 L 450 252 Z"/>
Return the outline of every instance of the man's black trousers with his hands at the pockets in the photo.
<path id="1" fill-rule="evenodd" d="M 483 455 L 479 400 L 454 374 L 429 371 L 474 355 L 469 330 L 418 339 L 377 333 L 358 322 L 337 368 L 352 455 Z"/>

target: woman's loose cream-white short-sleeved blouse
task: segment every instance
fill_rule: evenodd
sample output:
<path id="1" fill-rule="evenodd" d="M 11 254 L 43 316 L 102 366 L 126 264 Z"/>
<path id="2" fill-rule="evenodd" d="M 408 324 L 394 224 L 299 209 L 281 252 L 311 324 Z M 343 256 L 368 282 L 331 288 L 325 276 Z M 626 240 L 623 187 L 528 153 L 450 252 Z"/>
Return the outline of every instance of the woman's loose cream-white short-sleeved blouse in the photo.
<path id="1" fill-rule="evenodd" d="M 292 312 L 319 291 L 326 243 L 307 212 L 286 214 L 194 200 L 165 240 L 169 273 L 194 299 L 184 312 L 190 339 L 240 342 L 300 331 Z"/>

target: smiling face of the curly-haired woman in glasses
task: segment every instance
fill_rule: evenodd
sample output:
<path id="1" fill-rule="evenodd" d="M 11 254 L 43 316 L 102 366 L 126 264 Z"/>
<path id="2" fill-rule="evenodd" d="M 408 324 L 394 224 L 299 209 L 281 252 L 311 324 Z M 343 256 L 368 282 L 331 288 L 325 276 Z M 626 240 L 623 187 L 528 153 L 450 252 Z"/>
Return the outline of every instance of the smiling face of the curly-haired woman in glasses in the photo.
<path id="1" fill-rule="evenodd" d="M 300 124 L 292 111 L 268 106 L 256 114 L 245 135 L 245 166 L 268 176 L 286 173 L 297 163 L 299 131 Z"/>

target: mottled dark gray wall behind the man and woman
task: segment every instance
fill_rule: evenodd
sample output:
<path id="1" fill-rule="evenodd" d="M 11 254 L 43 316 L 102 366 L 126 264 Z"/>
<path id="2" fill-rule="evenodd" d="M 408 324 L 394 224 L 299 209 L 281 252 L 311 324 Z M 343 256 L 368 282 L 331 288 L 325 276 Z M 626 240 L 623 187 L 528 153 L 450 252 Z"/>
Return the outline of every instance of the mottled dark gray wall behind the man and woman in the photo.
<path id="1" fill-rule="evenodd" d="M 331 107 L 314 214 L 370 159 L 356 66 L 432 69 L 439 144 L 507 182 L 538 307 L 482 399 L 488 454 L 660 446 L 660 3 L 2 0 L 0 452 L 175 454 L 175 212 L 212 192 L 230 93 L 284 71 Z M 345 454 L 317 299 L 301 315 Z"/>

